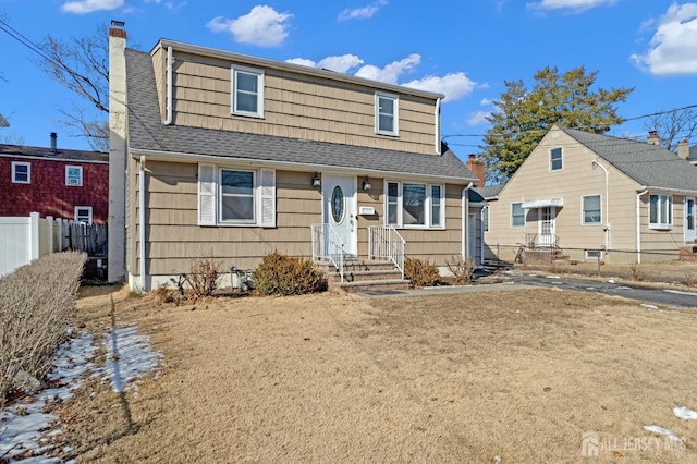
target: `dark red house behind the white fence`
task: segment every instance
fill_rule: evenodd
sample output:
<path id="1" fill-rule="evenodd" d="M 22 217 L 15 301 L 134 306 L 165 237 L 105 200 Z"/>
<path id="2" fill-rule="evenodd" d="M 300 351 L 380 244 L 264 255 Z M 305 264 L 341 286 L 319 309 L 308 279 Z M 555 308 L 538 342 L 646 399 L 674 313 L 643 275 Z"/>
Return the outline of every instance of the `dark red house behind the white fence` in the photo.
<path id="1" fill-rule="evenodd" d="M 109 156 L 57 147 L 0 145 L 0 217 L 29 216 L 103 223 L 109 213 Z"/>

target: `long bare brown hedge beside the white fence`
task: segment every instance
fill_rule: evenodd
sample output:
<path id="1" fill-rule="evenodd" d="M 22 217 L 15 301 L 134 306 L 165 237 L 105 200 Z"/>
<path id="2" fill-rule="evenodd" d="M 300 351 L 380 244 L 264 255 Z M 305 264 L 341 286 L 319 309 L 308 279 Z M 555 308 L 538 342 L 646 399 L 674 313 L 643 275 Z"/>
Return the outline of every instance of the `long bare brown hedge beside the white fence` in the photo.
<path id="1" fill-rule="evenodd" d="M 82 252 L 44 256 L 0 278 L 0 404 L 17 373 L 41 379 L 69 334 Z"/>

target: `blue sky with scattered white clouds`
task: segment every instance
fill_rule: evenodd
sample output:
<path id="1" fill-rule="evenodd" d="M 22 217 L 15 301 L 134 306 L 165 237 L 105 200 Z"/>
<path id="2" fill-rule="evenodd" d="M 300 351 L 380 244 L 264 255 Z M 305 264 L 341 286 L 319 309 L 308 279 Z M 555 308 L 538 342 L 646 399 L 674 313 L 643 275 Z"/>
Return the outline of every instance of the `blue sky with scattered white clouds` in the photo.
<path id="1" fill-rule="evenodd" d="M 125 22 L 129 45 L 159 38 L 332 69 L 445 95 L 442 135 L 462 158 L 477 152 L 484 115 L 505 81 L 533 84 L 545 66 L 585 65 L 597 85 L 635 87 L 623 118 L 697 103 L 697 2 L 671 0 L 0 0 L 0 15 L 35 42 L 91 35 Z M 0 30 L 0 138 L 89 149 L 69 137 L 57 108 L 82 101 L 46 77 L 36 57 Z M 646 133 L 646 119 L 611 135 Z M 457 136 L 452 136 L 458 134 Z M 463 136 L 464 135 L 464 136 Z M 690 141 L 692 144 L 697 139 Z"/>

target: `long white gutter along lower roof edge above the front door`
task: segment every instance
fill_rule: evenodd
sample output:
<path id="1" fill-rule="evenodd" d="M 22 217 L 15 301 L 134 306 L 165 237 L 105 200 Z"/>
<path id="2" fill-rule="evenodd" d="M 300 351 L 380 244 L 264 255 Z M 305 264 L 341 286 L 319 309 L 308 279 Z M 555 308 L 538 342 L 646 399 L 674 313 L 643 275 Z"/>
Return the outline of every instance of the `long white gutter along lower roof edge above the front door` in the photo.
<path id="1" fill-rule="evenodd" d="M 217 162 L 220 164 L 246 164 L 246 166 L 255 166 L 255 167 L 270 167 L 277 169 L 288 169 L 289 171 L 320 171 L 320 172 L 335 172 L 335 173 L 346 173 L 356 175 L 359 172 L 360 175 L 374 175 L 378 178 L 399 178 L 399 179 L 409 179 L 409 180 L 426 180 L 426 181 L 452 181 L 453 184 L 463 184 L 464 182 L 476 182 L 476 178 L 462 178 L 462 176 L 449 176 L 449 175 L 425 175 L 425 174 L 413 174 L 406 173 L 402 171 L 378 171 L 378 170 L 366 170 L 366 169 L 357 169 L 357 168 L 342 168 L 339 166 L 327 166 L 327 164 L 310 164 L 310 163 L 302 163 L 302 162 L 291 162 L 291 161 L 268 161 L 261 159 L 249 159 L 249 158 L 233 158 L 233 157 L 223 157 L 223 156 L 213 156 L 213 155 L 193 155 L 193 154 L 184 154 L 178 151 L 160 151 L 160 150 L 144 150 L 144 149 L 131 149 L 131 156 L 133 158 L 137 158 L 138 156 L 147 155 L 148 159 L 151 161 L 171 161 L 171 160 L 184 160 L 191 162 Z M 430 156 L 430 155 L 426 155 Z M 464 182 L 463 182 L 464 181 Z"/>

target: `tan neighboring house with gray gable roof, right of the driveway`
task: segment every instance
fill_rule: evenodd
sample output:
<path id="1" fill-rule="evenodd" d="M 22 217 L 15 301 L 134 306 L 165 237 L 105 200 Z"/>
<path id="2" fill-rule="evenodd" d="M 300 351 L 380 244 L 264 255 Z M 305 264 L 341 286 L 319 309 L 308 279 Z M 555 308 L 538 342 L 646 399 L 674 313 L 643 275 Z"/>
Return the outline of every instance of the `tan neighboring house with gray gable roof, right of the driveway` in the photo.
<path id="1" fill-rule="evenodd" d="M 555 125 L 509 182 L 478 192 L 488 202 L 487 258 L 516 244 L 558 247 L 572 259 L 676 254 L 697 239 L 697 167 L 657 144 Z"/>

